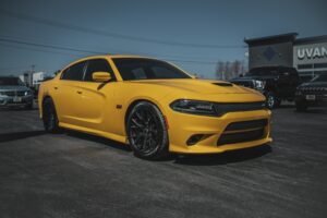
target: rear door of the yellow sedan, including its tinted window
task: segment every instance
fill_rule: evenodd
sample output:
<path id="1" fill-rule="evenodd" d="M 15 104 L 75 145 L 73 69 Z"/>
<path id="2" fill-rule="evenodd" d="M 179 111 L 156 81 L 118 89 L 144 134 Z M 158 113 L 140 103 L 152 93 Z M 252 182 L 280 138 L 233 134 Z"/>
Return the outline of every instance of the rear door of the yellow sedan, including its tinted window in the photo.
<path id="1" fill-rule="evenodd" d="M 65 69 L 53 87 L 53 100 L 60 122 L 78 123 L 77 105 L 81 101 L 80 86 L 83 83 L 86 61 Z"/>

